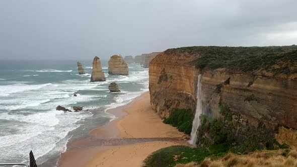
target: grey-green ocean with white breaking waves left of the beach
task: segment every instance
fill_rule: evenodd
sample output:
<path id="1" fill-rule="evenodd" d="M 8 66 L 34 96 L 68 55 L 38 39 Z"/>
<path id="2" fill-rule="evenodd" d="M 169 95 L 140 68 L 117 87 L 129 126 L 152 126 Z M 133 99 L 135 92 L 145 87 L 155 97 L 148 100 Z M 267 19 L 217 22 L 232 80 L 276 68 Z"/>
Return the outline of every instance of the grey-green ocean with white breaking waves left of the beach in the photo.
<path id="1" fill-rule="evenodd" d="M 81 63 L 84 75 L 76 61 L 1 61 L 0 162 L 26 162 L 32 150 L 38 164 L 54 166 L 69 140 L 115 118 L 107 109 L 148 91 L 148 69 L 140 64 L 129 64 L 129 75 L 109 75 L 102 61 L 106 81 L 90 82 L 92 60 Z M 111 82 L 121 92 L 110 93 Z M 84 111 L 64 113 L 58 105 Z"/>

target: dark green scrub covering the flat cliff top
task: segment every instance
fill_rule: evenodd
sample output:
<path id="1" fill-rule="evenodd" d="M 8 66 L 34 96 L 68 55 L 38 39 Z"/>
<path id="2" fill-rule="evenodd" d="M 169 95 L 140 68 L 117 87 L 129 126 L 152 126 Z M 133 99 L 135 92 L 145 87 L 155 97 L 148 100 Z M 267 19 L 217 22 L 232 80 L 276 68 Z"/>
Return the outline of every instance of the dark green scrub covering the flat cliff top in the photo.
<path id="1" fill-rule="evenodd" d="M 297 73 L 297 46 L 219 47 L 193 46 L 168 49 L 165 52 L 201 57 L 192 63 L 200 70 L 226 68 L 231 72 L 266 70 L 275 74 Z"/>

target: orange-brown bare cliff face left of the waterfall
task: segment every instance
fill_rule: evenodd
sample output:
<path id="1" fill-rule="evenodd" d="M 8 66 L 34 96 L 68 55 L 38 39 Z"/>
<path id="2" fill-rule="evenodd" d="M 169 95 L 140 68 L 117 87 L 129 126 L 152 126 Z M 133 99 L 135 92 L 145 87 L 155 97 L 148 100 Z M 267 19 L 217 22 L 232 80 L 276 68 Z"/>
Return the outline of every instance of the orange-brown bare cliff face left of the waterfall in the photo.
<path id="1" fill-rule="evenodd" d="M 198 69 L 189 62 L 196 58 L 163 52 L 151 61 L 151 105 L 161 117 L 168 117 L 175 109 L 194 111 Z"/>

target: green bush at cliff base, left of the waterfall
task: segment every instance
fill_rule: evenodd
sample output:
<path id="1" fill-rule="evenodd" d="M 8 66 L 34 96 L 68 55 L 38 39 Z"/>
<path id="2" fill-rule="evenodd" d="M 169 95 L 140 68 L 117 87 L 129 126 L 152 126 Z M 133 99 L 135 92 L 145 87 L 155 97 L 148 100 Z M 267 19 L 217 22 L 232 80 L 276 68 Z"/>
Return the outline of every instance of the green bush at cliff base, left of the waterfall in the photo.
<path id="1" fill-rule="evenodd" d="M 164 123 L 177 127 L 179 131 L 190 134 L 192 130 L 193 115 L 191 110 L 180 109 L 173 112 Z"/>

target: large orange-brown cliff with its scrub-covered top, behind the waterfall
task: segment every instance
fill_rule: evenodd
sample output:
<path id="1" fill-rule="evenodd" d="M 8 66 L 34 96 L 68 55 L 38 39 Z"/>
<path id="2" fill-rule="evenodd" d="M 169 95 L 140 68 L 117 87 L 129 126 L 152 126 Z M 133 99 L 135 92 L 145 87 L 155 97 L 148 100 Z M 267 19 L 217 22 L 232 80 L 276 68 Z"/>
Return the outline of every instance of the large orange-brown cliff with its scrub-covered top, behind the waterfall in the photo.
<path id="1" fill-rule="evenodd" d="M 297 138 L 297 47 L 185 47 L 168 49 L 150 63 L 151 104 L 161 117 L 175 109 L 195 112 L 201 74 L 204 115 L 222 119 L 219 106 L 254 127 L 291 128 L 276 139 Z M 284 131 L 284 130 L 281 130 Z M 287 137 L 288 136 L 288 137 Z M 288 139 L 290 138 L 290 139 Z"/>

